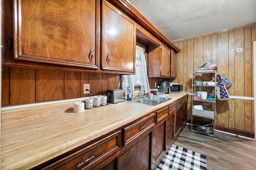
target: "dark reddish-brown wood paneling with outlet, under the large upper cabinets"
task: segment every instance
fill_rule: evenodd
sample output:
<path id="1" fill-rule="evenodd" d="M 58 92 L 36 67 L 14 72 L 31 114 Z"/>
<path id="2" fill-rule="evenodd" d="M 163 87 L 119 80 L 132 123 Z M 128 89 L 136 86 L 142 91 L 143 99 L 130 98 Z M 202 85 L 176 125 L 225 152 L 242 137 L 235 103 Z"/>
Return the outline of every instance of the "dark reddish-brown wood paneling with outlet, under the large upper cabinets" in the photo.
<path id="1" fill-rule="evenodd" d="M 120 75 L 7 67 L 2 70 L 2 106 L 94 96 L 83 93 L 87 83 L 92 93 L 106 95 L 119 88 Z"/>

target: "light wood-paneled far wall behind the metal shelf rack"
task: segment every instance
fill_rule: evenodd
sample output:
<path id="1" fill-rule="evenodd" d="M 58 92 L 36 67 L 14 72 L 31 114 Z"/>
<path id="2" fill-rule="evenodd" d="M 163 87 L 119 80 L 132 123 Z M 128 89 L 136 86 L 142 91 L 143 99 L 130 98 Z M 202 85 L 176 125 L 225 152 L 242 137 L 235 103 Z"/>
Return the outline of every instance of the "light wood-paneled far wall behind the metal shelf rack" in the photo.
<path id="1" fill-rule="evenodd" d="M 173 41 L 181 50 L 178 53 L 178 77 L 184 91 L 192 91 L 188 78 L 194 68 L 213 60 L 218 74 L 228 77 L 232 86 L 231 96 L 253 97 L 253 41 L 256 41 L 256 23 L 243 25 L 215 33 Z M 242 48 L 241 52 L 236 49 Z M 204 76 L 202 80 L 211 80 Z M 188 119 L 191 119 L 191 96 L 188 102 Z M 254 102 L 229 99 L 216 103 L 216 125 L 224 129 L 254 133 Z"/>

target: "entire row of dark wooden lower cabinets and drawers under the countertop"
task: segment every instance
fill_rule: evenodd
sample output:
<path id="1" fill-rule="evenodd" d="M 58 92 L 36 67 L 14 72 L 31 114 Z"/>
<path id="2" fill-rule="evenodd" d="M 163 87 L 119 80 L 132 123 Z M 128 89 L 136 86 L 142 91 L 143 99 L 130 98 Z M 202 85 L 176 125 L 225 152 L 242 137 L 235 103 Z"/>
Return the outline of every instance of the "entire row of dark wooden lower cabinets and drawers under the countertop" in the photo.
<path id="1" fill-rule="evenodd" d="M 32 169 L 154 170 L 186 124 L 187 99 Z"/>

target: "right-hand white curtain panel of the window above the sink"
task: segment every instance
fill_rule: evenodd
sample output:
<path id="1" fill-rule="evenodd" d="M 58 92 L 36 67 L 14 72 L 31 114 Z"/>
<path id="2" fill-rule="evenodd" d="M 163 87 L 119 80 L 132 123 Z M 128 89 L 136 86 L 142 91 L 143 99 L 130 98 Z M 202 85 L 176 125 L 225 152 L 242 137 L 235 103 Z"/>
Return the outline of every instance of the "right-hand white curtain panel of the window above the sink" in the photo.
<path id="1" fill-rule="evenodd" d="M 148 92 L 149 89 L 149 83 L 148 83 L 148 74 L 147 74 L 147 66 L 146 66 L 146 59 L 145 55 L 142 53 L 136 53 L 136 56 L 139 57 L 140 61 L 140 93 Z"/>

